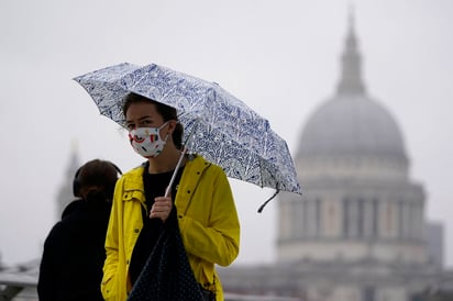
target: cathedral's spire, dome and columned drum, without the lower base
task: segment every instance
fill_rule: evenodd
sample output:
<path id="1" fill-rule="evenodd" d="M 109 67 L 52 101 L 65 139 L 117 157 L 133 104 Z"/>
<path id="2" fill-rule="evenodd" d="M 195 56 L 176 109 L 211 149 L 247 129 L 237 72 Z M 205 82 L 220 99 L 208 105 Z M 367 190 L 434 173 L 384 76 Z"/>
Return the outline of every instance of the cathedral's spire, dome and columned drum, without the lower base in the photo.
<path id="1" fill-rule="evenodd" d="M 396 120 L 366 91 L 352 16 L 336 92 L 308 119 L 295 163 L 305 199 L 280 198 L 279 261 L 428 261 L 423 189 Z"/>

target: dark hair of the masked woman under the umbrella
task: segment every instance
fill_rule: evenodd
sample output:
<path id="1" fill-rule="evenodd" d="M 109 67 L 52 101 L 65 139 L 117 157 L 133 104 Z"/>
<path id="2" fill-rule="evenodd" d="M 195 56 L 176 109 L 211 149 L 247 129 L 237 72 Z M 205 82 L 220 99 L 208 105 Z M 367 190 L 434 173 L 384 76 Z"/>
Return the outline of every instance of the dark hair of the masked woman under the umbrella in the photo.
<path id="1" fill-rule="evenodd" d="M 136 93 L 129 93 L 125 97 L 124 103 L 123 103 L 123 115 L 125 118 L 125 113 L 128 112 L 129 107 L 132 103 L 139 103 L 139 102 L 151 102 L 154 104 L 154 107 L 156 108 L 157 113 L 159 113 L 162 115 L 162 118 L 165 121 L 169 121 L 169 120 L 176 120 L 178 121 L 178 115 L 176 112 L 176 109 L 173 107 L 169 107 L 167 104 L 157 102 L 155 100 L 152 100 L 150 98 L 143 97 L 141 94 L 136 94 Z M 183 145 L 183 133 L 184 133 L 184 127 L 183 124 L 180 124 L 179 122 L 176 123 L 176 127 L 175 131 L 173 131 L 172 134 L 172 138 L 173 142 L 175 143 L 175 146 L 178 149 L 183 149 L 184 145 Z"/>

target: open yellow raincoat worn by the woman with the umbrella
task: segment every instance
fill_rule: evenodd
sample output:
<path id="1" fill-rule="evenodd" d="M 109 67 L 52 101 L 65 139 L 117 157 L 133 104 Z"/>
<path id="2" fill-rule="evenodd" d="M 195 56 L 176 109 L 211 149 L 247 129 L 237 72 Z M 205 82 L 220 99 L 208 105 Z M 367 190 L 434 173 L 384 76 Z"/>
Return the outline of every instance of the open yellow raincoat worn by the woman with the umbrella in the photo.
<path id="1" fill-rule="evenodd" d="M 124 301 L 132 287 L 129 263 L 143 227 L 144 167 L 132 169 L 118 181 L 106 237 L 107 259 L 101 283 L 106 300 Z M 223 170 L 201 156 L 189 156 L 177 188 L 175 205 L 179 228 L 195 278 L 214 283 L 223 300 L 214 264 L 228 266 L 237 257 L 240 224 L 230 183 Z"/>

